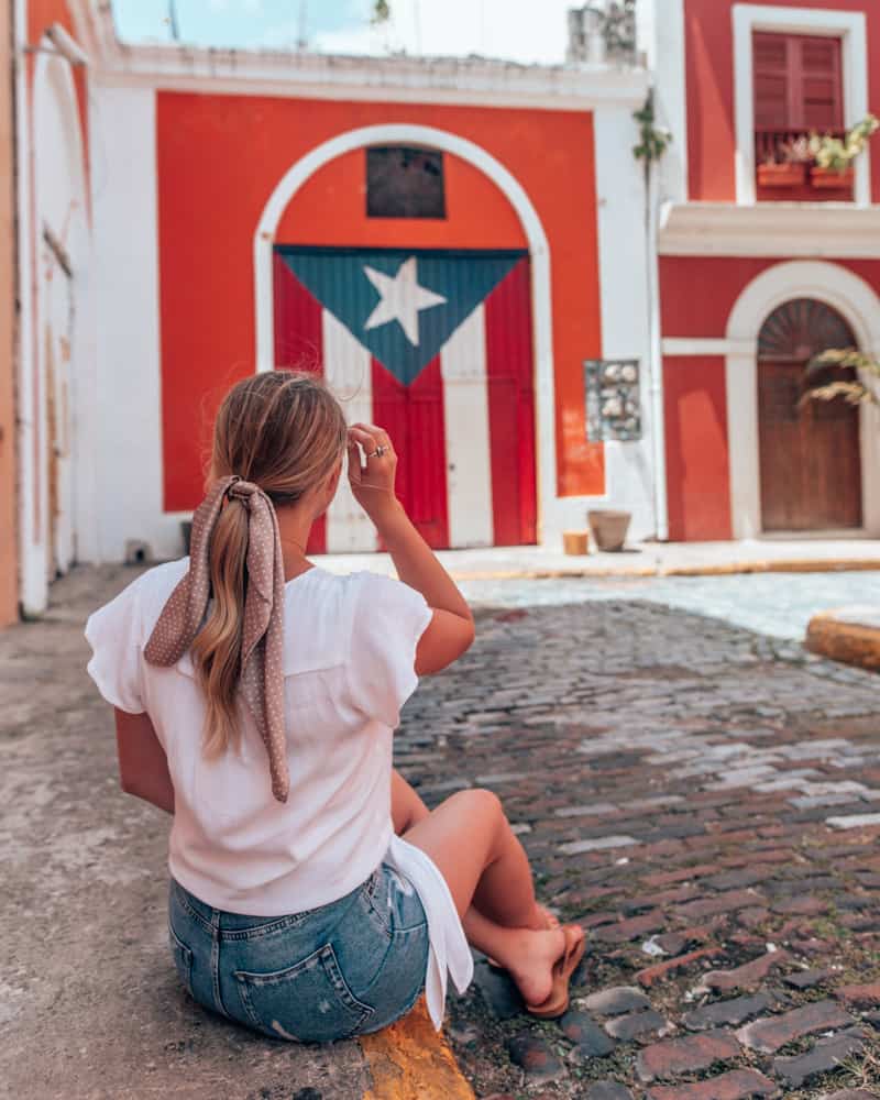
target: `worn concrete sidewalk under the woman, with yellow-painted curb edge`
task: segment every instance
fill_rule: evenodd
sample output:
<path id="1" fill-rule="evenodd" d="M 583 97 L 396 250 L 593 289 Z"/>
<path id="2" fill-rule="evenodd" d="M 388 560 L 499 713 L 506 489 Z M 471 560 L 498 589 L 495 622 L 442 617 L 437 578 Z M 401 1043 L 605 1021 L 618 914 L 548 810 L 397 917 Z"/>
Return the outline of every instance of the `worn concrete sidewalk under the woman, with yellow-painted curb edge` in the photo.
<path id="1" fill-rule="evenodd" d="M 0 1096 L 16 1100 L 472 1100 L 424 1012 L 300 1046 L 202 1011 L 167 932 L 170 818 L 120 790 L 86 616 L 136 575 L 77 569 L 0 631 Z"/>

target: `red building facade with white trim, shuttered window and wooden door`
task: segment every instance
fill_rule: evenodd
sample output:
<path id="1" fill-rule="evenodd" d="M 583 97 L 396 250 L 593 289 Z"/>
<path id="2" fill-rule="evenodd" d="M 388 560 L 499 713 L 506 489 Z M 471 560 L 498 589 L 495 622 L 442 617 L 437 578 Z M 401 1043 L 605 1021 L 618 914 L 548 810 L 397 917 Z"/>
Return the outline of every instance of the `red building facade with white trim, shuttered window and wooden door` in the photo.
<path id="1" fill-rule="evenodd" d="M 880 141 L 847 175 L 792 160 L 880 105 L 880 10 L 673 7 L 679 53 L 657 61 L 679 146 L 658 234 L 669 537 L 877 535 L 875 411 L 800 398 L 817 352 L 880 352 Z"/>

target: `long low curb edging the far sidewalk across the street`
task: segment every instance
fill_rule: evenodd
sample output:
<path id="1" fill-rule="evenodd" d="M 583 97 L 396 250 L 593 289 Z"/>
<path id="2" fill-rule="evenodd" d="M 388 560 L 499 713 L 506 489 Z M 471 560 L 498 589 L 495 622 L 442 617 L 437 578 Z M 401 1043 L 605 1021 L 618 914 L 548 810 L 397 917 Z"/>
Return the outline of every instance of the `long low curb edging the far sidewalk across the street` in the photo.
<path id="1" fill-rule="evenodd" d="M 735 561 L 695 565 L 576 566 L 571 569 L 458 570 L 450 566 L 453 581 L 559 581 L 566 578 L 606 580 L 649 576 L 728 576 L 741 573 L 850 573 L 880 571 L 880 558 L 809 558 L 779 561 Z"/>

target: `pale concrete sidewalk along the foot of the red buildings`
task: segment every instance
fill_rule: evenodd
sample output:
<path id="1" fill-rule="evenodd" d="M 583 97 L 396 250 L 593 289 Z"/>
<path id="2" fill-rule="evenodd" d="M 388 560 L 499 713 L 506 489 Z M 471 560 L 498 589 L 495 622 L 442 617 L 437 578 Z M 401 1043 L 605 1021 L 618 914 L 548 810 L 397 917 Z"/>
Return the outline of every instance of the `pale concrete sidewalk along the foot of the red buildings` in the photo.
<path id="1" fill-rule="evenodd" d="M 878 539 L 747 539 L 738 542 L 635 542 L 619 553 L 568 556 L 546 547 L 441 550 L 457 581 L 559 576 L 711 576 L 727 573 L 880 569 Z M 331 572 L 394 573 L 387 554 L 318 554 Z"/>

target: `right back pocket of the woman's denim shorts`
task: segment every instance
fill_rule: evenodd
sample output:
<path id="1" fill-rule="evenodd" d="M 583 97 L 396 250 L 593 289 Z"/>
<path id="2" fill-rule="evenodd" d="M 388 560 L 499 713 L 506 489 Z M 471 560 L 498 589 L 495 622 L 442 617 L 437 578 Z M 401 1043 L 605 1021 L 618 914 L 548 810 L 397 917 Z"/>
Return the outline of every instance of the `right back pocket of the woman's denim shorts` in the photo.
<path id="1" fill-rule="evenodd" d="M 330 944 L 284 970 L 233 974 L 249 1020 L 276 1038 L 330 1043 L 356 1034 L 373 1015 L 349 989 Z"/>

